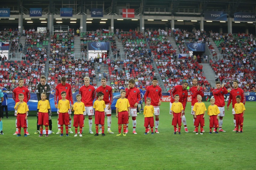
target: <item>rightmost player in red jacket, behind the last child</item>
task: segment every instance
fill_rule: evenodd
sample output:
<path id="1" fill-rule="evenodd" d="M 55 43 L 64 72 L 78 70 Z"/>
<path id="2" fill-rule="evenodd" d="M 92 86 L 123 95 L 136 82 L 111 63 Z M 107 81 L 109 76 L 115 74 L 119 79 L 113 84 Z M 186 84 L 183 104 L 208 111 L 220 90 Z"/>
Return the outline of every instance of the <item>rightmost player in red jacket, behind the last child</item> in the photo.
<path id="1" fill-rule="evenodd" d="M 236 96 L 237 95 L 240 95 L 241 96 L 241 103 L 243 103 L 245 105 L 245 93 L 244 91 L 238 87 L 238 81 L 235 80 L 233 81 L 233 89 L 230 91 L 230 94 L 229 94 L 229 99 L 228 99 L 228 102 L 227 102 L 227 110 L 229 109 L 229 105 L 232 101 L 232 114 L 234 115 L 234 125 L 235 125 L 235 129 L 233 131 L 236 131 L 236 118 L 235 118 L 235 114 L 236 112 L 234 111 L 234 106 L 236 104 Z"/>

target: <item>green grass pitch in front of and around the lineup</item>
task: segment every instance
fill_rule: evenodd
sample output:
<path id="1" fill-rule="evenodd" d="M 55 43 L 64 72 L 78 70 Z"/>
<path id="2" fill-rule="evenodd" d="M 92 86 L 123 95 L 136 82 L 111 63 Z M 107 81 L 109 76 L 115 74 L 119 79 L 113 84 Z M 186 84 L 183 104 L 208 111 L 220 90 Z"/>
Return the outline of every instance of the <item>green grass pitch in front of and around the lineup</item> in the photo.
<path id="1" fill-rule="evenodd" d="M 206 102 L 206 108 L 210 102 Z M 225 106 L 226 108 L 226 106 Z M 16 137 L 15 117 L 3 120 L 4 135 L 1 141 L 1 169 L 256 169 L 255 165 L 255 102 L 246 102 L 244 133 L 232 130 L 233 115 L 226 110 L 223 129 L 227 132 L 209 134 L 206 115 L 205 133 L 193 133 L 190 102 L 185 111 L 189 133 L 181 127 L 181 135 L 173 134 L 169 102 L 160 106 L 159 134 L 144 135 L 144 116 L 137 117 L 138 134 L 132 134 L 129 125 L 127 136 L 116 136 L 117 118 L 112 113 L 111 130 L 115 134 L 95 137 L 88 133 L 85 121 L 83 137 L 38 137 L 35 112 L 29 113 L 28 137 Z M 14 112 L 10 112 L 13 115 Z M 57 132 L 57 117 L 53 113 L 53 130 Z M 207 114 L 207 113 L 206 113 Z M 105 124 L 107 124 L 105 119 Z M 131 121 L 131 119 L 130 119 Z M 93 117 L 94 123 L 94 117 Z M 72 130 L 75 131 L 74 127 Z M 23 131 L 23 130 L 22 130 Z M 93 124 L 93 132 L 95 125 Z M 23 134 L 23 132 L 22 132 Z"/>

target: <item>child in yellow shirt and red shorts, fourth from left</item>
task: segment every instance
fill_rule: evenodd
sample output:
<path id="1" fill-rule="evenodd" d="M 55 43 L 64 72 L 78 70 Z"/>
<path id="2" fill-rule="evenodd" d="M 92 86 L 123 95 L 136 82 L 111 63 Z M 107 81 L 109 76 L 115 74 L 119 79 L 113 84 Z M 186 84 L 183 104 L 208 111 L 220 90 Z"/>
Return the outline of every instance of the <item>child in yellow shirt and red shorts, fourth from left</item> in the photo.
<path id="1" fill-rule="evenodd" d="M 81 94 L 76 95 L 77 102 L 74 103 L 72 106 L 72 111 L 74 111 L 74 123 L 73 126 L 75 127 L 75 135 L 74 137 L 77 137 L 77 130 L 79 125 L 79 136 L 82 137 L 82 130 L 84 127 L 84 103 L 81 102 Z"/>

